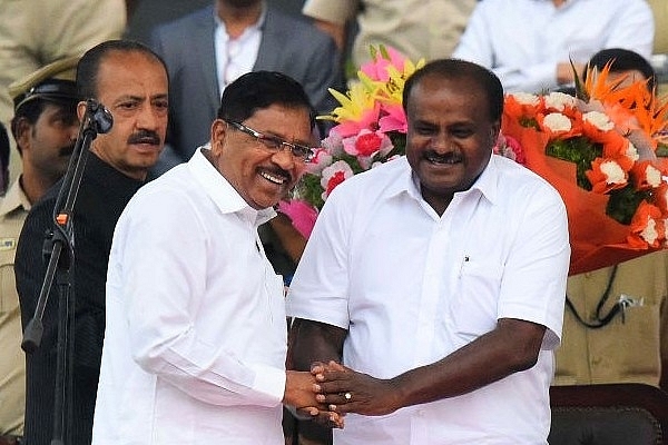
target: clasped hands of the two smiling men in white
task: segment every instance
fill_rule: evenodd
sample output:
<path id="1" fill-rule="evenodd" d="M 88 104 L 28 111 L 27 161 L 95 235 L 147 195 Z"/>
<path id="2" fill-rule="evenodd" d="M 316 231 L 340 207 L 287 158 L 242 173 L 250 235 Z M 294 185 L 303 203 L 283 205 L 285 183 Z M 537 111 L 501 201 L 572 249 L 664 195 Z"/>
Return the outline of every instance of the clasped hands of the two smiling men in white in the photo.
<path id="1" fill-rule="evenodd" d="M 393 413 L 397 405 L 397 392 L 391 380 L 357 373 L 336 362 L 316 362 L 311 366 L 315 383 L 315 406 L 297 406 L 298 418 L 310 418 L 321 425 L 343 428 L 346 413 L 380 416 Z"/>

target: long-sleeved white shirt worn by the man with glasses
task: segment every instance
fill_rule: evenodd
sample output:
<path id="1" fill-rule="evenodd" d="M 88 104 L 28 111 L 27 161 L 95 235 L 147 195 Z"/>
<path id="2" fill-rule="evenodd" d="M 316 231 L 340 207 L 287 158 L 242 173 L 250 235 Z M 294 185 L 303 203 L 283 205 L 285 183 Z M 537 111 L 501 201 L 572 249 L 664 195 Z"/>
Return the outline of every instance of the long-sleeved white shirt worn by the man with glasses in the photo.
<path id="1" fill-rule="evenodd" d="M 284 443 L 283 280 L 250 208 L 198 150 L 116 227 L 95 445 Z"/>

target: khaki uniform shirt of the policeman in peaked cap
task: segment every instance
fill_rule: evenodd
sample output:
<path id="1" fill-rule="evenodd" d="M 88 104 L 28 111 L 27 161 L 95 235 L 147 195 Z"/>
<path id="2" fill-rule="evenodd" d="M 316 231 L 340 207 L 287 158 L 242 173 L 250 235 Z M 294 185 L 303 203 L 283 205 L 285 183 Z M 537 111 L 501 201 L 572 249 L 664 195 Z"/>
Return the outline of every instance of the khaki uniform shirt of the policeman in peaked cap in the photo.
<path id="1" fill-rule="evenodd" d="M 17 180 L 0 198 L 0 436 L 23 434 L 26 356 L 13 263 L 29 209 Z"/>

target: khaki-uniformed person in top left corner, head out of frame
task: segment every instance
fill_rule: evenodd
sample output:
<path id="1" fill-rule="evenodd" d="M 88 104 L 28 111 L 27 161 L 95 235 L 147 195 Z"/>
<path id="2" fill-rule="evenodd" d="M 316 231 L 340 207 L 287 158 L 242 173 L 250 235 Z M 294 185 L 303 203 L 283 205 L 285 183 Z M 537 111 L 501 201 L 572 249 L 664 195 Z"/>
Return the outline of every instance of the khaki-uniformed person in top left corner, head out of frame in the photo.
<path id="1" fill-rule="evenodd" d="M 125 0 L 0 0 L 0 121 L 9 128 L 13 108 L 7 87 L 11 82 L 55 60 L 120 38 L 128 7 Z M 21 172 L 19 159 L 12 149 L 12 181 Z"/>

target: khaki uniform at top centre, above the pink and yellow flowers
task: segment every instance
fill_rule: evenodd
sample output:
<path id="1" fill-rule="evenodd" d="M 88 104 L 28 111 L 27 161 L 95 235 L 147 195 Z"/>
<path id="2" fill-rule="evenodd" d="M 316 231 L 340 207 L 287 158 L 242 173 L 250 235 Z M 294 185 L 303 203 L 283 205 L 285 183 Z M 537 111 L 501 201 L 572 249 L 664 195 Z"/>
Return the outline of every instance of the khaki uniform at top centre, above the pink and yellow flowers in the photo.
<path id="1" fill-rule="evenodd" d="M 357 18 L 356 67 L 371 59 L 371 44 L 393 47 L 416 62 L 450 57 L 477 0 L 306 0 L 305 16 L 344 24 Z M 358 7 L 364 9 L 358 14 Z"/>

